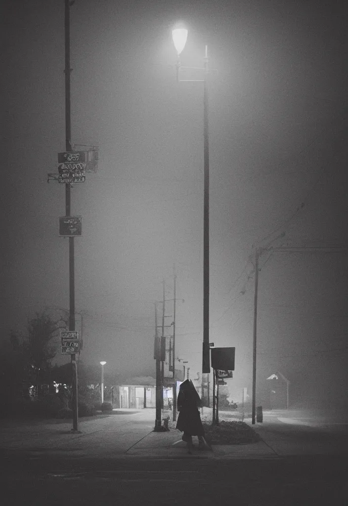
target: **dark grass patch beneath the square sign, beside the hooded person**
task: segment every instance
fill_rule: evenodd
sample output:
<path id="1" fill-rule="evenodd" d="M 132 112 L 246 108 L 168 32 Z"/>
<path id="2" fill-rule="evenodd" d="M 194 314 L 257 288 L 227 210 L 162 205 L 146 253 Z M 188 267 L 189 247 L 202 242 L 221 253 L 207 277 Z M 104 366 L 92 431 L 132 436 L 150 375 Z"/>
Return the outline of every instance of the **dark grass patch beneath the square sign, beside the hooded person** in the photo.
<path id="1" fill-rule="evenodd" d="M 209 444 L 256 443 L 260 436 L 244 421 L 220 421 L 219 425 L 203 423 Z"/>

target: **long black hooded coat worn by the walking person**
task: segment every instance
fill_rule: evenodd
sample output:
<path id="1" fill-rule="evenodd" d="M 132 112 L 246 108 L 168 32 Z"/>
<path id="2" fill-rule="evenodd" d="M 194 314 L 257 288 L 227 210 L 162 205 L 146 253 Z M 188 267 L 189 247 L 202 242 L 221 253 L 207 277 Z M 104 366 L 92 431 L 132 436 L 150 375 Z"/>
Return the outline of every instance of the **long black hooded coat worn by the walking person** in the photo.
<path id="1" fill-rule="evenodd" d="M 181 385 L 178 395 L 178 421 L 177 429 L 191 436 L 204 436 L 201 417 L 198 407 L 201 400 L 190 379 L 186 379 Z"/>

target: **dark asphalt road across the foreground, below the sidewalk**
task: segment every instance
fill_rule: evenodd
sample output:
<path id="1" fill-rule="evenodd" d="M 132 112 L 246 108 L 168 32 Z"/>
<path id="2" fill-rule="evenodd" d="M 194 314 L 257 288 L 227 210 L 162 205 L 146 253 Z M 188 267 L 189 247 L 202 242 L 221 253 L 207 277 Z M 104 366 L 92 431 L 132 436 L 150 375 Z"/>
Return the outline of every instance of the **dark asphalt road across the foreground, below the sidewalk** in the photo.
<path id="1" fill-rule="evenodd" d="M 29 463 L 29 462 L 27 462 Z M 24 466 L 23 466 L 24 464 Z M 6 504 L 233 504 L 346 506 L 346 459 L 43 458 L 2 474 Z"/>

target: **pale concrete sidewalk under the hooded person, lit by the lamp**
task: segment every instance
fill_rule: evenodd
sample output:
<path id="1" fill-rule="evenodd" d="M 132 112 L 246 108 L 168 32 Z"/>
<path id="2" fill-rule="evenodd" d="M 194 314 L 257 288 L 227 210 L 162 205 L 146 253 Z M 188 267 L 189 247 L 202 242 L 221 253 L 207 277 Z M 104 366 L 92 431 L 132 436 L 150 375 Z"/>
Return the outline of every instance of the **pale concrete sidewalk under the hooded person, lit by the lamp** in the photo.
<path id="1" fill-rule="evenodd" d="M 213 445 L 212 451 L 198 449 L 198 439 L 193 438 L 194 449 L 188 453 L 182 433 L 169 424 L 168 432 L 153 432 L 155 410 L 115 410 L 98 417 L 81 418 L 80 433 L 71 431 L 72 421 L 42 420 L 40 423 L 18 425 L 0 424 L 0 448 L 5 451 L 27 454 L 66 454 L 70 457 L 88 458 L 281 458 L 290 455 L 342 453 L 342 438 L 325 439 L 317 432 L 313 439 L 312 429 L 281 423 L 275 413 L 264 414 L 264 423 L 251 425 L 262 438 L 257 443 L 237 445 Z M 209 410 L 204 408 L 203 419 L 209 421 Z M 278 414 L 278 413 L 277 413 Z M 282 413 L 279 413 L 282 414 Z M 231 413 L 226 414 L 231 419 Z M 224 413 L 221 413 L 221 418 Z M 291 432 L 292 431 L 292 432 Z M 298 431 L 298 432 L 296 432 Z"/>

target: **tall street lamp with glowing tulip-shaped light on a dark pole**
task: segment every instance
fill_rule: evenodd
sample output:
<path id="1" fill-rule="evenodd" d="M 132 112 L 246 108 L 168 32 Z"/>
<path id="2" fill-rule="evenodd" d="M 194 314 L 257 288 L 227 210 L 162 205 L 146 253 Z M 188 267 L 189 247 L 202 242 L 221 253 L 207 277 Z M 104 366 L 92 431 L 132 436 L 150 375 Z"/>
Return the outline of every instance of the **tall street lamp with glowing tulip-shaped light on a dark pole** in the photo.
<path id="1" fill-rule="evenodd" d="M 179 79 L 179 70 L 197 67 L 182 67 L 180 54 L 182 53 L 188 35 L 185 28 L 175 28 L 171 32 L 174 46 L 178 53 L 177 81 L 190 80 L 203 82 L 203 138 L 204 138 L 204 200 L 203 200 L 203 350 L 202 350 L 202 373 L 210 372 L 209 351 L 209 134 L 208 134 L 208 47 L 205 46 L 203 79 Z"/>

